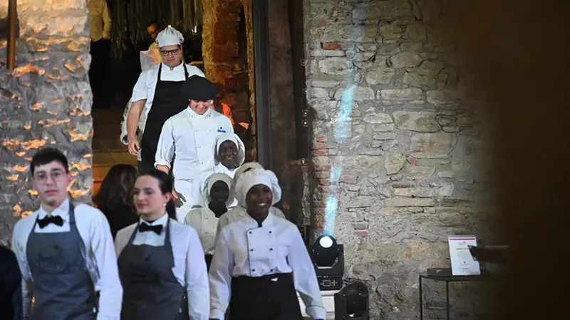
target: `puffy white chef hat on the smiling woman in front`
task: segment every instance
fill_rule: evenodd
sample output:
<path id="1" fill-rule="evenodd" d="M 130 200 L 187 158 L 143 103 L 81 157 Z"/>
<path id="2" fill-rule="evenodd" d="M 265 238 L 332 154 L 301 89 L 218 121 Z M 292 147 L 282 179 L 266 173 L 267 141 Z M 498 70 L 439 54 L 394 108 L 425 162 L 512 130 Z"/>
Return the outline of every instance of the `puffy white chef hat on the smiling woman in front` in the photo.
<path id="1" fill-rule="evenodd" d="M 271 189 L 273 193 L 273 201 L 271 206 L 278 203 L 281 200 L 281 186 L 279 186 L 279 180 L 277 176 L 271 170 L 264 169 L 254 169 L 245 172 L 239 176 L 235 188 L 237 203 L 243 208 L 247 208 L 246 196 L 253 186 L 258 184 L 263 184 Z"/>

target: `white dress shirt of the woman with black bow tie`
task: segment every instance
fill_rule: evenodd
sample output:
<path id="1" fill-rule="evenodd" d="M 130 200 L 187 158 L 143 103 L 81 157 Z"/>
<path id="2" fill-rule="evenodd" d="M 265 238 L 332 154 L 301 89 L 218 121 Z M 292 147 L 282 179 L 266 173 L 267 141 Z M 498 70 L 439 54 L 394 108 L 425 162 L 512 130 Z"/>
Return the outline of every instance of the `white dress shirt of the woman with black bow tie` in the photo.
<path id="1" fill-rule="evenodd" d="M 143 220 L 140 220 L 140 223 Z M 166 223 L 168 215 L 147 223 L 148 225 L 162 225 L 162 233 L 154 232 L 137 233 L 133 239 L 133 245 L 152 245 L 155 247 L 165 244 Z M 144 222 L 146 223 L 146 222 Z M 115 238 L 115 250 L 118 258 L 120 252 L 127 245 L 130 235 L 133 234 L 139 223 L 133 223 L 117 233 Z M 192 320 L 208 320 L 209 314 L 209 285 L 204 250 L 196 231 L 175 220 L 170 220 L 170 244 L 174 256 L 172 273 L 178 282 L 185 286 L 188 298 L 188 313 Z"/>

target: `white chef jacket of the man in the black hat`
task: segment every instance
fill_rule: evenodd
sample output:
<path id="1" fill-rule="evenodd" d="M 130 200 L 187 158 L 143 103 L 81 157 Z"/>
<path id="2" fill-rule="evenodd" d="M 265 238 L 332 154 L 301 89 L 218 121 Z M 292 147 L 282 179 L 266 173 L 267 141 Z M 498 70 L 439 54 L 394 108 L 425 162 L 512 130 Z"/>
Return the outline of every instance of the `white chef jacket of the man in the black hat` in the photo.
<path id="1" fill-rule="evenodd" d="M 187 107 L 162 126 L 155 166 L 170 168 L 174 157 L 172 174 L 175 180 L 194 181 L 198 174 L 214 169 L 212 149 L 217 134 L 225 132 L 233 133 L 234 127 L 224 114 L 207 110 L 200 115 Z"/>

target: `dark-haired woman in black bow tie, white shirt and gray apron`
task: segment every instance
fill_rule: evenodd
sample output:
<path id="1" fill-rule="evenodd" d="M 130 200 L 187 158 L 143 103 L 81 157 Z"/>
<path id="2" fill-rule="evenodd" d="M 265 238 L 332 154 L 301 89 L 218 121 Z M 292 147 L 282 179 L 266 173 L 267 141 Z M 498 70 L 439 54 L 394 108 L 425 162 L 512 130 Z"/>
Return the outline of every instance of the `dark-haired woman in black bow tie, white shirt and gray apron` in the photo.
<path id="1" fill-rule="evenodd" d="M 208 319 L 204 250 L 196 231 L 176 221 L 172 179 L 157 169 L 139 176 L 134 202 L 140 221 L 115 239 L 121 319 Z"/>

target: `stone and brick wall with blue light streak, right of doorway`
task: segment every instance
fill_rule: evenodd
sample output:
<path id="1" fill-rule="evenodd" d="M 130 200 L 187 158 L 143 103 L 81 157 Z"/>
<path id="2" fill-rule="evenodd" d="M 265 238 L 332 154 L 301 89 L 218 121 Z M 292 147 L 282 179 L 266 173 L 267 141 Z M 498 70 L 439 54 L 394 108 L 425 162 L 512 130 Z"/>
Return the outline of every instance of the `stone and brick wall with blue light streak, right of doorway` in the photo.
<path id="1" fill-rule="evenodd" d="M 306 0 L 312 218 L 345 245 L 345 277 L 371 288 L 372 319 L 417 319 L 418 272 L 449 266 L 447 235 L 489 241 L 489 139 L 445 2 Z M 427 285 L 427 316 L 442 316 L 443 289 Z"/>

